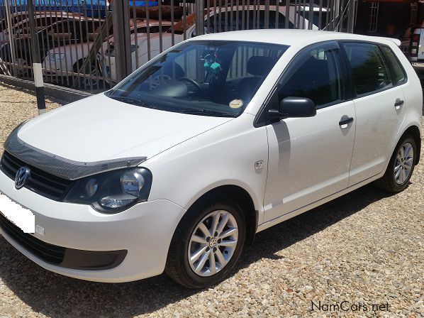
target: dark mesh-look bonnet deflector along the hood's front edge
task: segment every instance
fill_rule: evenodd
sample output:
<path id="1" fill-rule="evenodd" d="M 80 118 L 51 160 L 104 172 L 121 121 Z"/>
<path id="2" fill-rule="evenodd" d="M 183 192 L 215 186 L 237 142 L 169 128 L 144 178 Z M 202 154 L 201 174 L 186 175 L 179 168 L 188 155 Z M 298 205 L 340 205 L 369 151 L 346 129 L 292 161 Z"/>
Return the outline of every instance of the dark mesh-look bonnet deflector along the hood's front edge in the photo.
<path id="1" fill-rule="evenodd" d="M 89 163 L 69 160 L 58 155 L 48 153 L 44 150 L 35 148 L 21 141 L 18 138 L 18 131 L 23 126 L 22 123 L 9 135 L 4 143 L 4 148 L 8 153 L 21 159 L 28 165 L 49 172 L 57 177 L 67 180 L 75 180 L 81 177 L 88 177 L 96 173 L 116 170 L 121 168 L 131 168 L 143 163 L 147 157 L 119 158 L 113 160 L 101 160 Z M 65 144 L 64 144 L 65 146 Z"/>

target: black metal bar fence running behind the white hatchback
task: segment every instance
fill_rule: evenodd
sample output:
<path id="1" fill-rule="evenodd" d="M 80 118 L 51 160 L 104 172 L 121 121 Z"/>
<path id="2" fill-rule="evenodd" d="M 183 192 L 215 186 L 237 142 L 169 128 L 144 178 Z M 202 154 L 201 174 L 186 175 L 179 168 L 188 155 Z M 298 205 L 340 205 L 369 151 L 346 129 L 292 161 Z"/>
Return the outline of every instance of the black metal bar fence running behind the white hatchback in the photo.
<path id="1" fill-rule="evenodd" d="M 33 62 L 41 62 L 45 82 L 99 92 L 163 50 L 204 33 L 352 32 L 355 1 L 0 0 L 0 73 L 30 79 Z"/>

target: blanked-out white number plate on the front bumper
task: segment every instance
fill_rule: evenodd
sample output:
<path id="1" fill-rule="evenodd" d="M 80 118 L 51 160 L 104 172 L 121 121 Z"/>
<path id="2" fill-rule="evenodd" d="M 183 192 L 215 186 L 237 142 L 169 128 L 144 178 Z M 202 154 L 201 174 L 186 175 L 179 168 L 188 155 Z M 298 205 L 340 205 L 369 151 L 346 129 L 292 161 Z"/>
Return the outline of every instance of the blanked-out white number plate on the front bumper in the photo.
<path id="1" fill-rule="evenodd" d="M 30 210 L 21 207 L 9 197 L 0 193 L 0 213 L 18 226 L 24 233 L 35 233 L 35 216 Z"/>

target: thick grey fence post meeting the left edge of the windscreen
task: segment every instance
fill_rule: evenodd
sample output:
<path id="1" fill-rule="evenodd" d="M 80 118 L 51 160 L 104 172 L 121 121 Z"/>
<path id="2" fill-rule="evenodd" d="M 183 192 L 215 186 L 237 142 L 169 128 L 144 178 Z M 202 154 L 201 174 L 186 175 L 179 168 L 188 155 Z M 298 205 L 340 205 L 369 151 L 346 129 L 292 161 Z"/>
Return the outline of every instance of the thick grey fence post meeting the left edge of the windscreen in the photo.
<path id="1" fill-rule="evenodd" d="M 113 0 L 112 20 L 116 82 L 121 82 L 133 71 L 130 52 L 130 6 L 128 0 Z"/>

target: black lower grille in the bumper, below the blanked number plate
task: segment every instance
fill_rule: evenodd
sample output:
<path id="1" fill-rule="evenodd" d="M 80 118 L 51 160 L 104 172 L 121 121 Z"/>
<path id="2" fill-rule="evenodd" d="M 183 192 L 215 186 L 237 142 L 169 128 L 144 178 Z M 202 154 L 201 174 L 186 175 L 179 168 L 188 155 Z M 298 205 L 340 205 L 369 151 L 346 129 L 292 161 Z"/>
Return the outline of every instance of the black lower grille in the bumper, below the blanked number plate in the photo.
<path id="1" fill-rule="evenodd" d="M 45 243 L 30 234 L 23 233 L 18 226 L 6 219 L 6 217 L 1 213 L 0 227 L 7 235 L 11 236 L 14 241 L 19 243 L 35 256 L 38 256 L 38 258 L 41 258 L 46 263 L 55 265 L 62 263 L 63 258 L 65 257 L 66 248 Z"/>

